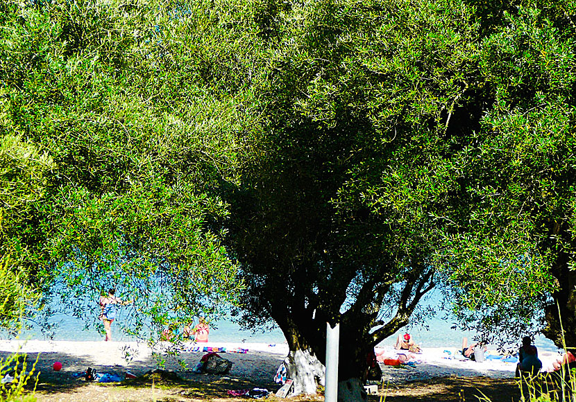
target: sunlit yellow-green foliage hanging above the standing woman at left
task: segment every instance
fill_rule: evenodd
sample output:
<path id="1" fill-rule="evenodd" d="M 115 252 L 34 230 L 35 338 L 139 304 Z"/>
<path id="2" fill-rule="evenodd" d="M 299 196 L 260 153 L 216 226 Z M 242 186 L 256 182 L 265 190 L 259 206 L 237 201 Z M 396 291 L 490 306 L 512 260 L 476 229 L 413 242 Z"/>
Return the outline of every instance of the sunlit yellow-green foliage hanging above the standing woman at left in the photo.
<path id="1" fill-rule="evenodd" d="M 117 286 L 164 325 L 217 315 L 241 285 L 215 225 L 226 205 L 211 194 L 235 166 L 243 121 L 233 100 L 242 103 L 246 76 L 234 71 L 249 68 L 239 55 L 250 47 L 235 44 L 239 31 L 218 11 L 174 1 L 1 6 L 2 130 L 56 167 L 0 243 L 76 315 L 95 317 L 101 291 Z"/>

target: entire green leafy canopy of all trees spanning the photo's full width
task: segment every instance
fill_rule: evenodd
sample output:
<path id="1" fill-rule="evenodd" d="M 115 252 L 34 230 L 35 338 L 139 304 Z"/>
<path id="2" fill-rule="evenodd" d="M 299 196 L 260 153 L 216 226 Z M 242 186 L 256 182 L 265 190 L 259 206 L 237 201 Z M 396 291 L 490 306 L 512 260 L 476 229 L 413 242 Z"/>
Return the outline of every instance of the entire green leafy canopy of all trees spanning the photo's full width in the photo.
<path id="1" fill-rule="evenodd" d="M 293 350 L 341 324 L 342 379 L 436 285 L 484 333 L 550 296 L 573 329 L 575 7 L 2 3 L 0 135 L 46 159 L 0 250 L 77 315 L 115 284 L 160 326 L 244 279 Z"/>

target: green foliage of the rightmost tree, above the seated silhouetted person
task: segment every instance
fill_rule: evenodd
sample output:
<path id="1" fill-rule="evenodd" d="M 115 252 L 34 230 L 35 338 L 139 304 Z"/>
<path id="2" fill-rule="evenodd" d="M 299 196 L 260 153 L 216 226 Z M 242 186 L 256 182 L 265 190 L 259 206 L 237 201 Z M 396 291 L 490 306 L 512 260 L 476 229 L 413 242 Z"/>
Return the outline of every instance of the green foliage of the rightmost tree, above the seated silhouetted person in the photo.
<path id="1" fill-rule="evenodd" d="M 518 313 L 527 317 L 524 324 L 534 314 L 541 317 L 543 304 L 537 302 L 545 302 L 543 296 L 550 295 L 545 290 L 553 286 L 546 320 L 558 346 L 556 302 L 567 334 L 574 333 L 576 317 L 570 302 L 576 283 L 570 273 L 576 223 L 576 42 L 570 17 L 575 10 L 574 2 L 566 2 L 502 12 L 502 22 L 482 41 L 478 68 L 490 106 L 470 136 L 471 146 L 457 155 L 454 177 L 466 195 L 448 249 L 458 257 L 452 277 L 482 279 L 481 289 L 464 288 L 462 304 L 499 305 L 486 310 L 495 310 L 484 325 L 491 331 L 498 325 L 506 329 Z M 479 93 L 480 88 L 475 98 Z"/>

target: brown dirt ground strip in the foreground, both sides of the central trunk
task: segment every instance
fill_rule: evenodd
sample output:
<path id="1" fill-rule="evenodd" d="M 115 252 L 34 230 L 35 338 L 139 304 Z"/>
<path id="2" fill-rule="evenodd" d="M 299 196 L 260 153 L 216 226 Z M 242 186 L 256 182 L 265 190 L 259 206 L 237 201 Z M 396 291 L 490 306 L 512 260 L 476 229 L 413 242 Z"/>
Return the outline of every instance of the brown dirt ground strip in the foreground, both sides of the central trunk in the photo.
<path id="1" fill-rule="evenodd" d="M 52 383 L 53 378 L 40 376 L 36 396 L 39 402 L 196 402 L 196 401 L 248 401 L 246 397 L 233 397 L 228 390 L 265 387 L 276 392 L 274 383 L 253 383 L 247 379 L 178 373 L 180 378 L 165 380 L 127 380 L 121 383 L 87 383 L 83 379 Z M 275 396 L 267 401 L 280 400 Z M 323 395 L 303 396 L 292 401 L 323 401 Z M 369 401 L 520 401 L 520 390 L 514 379 L 476 378 L 432 378 L 427 381 L 380 387 L 378 394 L 369 395 Z"/>

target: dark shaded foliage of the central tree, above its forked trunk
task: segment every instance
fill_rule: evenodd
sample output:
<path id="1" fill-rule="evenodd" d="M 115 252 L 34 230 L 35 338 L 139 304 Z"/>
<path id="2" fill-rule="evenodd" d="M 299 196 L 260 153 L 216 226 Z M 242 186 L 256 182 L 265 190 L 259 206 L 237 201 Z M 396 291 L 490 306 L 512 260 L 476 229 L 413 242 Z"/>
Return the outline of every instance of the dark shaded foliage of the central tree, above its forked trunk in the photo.
<path id="1" fill-rule="evenodd" d="M 461 97 L 475 55 L 462 12 L 451 2 L 323 1 L 278 15 L 284 29 L 260 89 L 267 120 L 230 198 L 232 247 L 258 295 L 246 295 L 244 321 L 273 318 L 291 347 L 321 360 L 325 322 L 340 322 L 343 379 L 439 279 L 434 215 L 450 186 L 439 154 L 452 146 L 441 139 L 443 106 Z"/>

